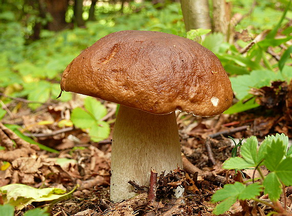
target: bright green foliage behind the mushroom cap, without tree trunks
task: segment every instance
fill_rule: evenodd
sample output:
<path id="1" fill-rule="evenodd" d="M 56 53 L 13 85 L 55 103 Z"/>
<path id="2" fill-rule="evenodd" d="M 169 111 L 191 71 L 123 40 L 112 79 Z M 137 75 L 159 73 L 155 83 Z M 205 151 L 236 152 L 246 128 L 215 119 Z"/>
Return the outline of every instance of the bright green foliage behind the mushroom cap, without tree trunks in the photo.
<path id="1" fill-rule="evenodd" d="M 208 34 L 201 44 L 212 50 L 220 58 L 226 71 L 233 76 L 231 81 L 236 96 L 240 100 L 227 111 L 227 113 L 242 112 L 257 107 L 254 100 L 243 103 L 251 95 L 250 88 L 269 85 L 271 72 L 278 74 L 287 69 L 285 64 L 290 63 L 289 54 L 291 48 L 283 53 L 278 64 L 269 62 L 270 55 L 265 51 L 268 46 L 276 47 L 291 39 L 289 29 L 283 28 L 283 38 L 275 38 L 275 33 L 286 23 L 284 17 L 291 17 L 288 10 L 290 1 L 260 1 L 254 10 L 249 11 L 254 1 L 233 1 L 233 12 L 249 14 L 243 18 L 237 30 L 248 29 L 249 34 L 255 37 L 264 30 L 269 29 L 270 33 L 258 44 L 252 46 L 245 54 L 240 49 L 248 42 L 236 41 L 237 46 L 224 42 L 224 36 L 219 33 Z M 157 5 L 158 6 L 158 5 Z M 59 94 L 59 81 L 62 71 L 82 50 L 93 44 L 96 40 L 109 33 L 120 30 L 151 30 L 172 33 L 188 38 L 198 38 L 206 34 L 208 30 L 191 30 L 186 33 L 182 19 L 180 5 L 177 3 L 165 4 L 162 9 L 157 9 L 151 2 L 131 2 L 124 7 L 123 14 L 118 13 L 120 4 L 102 4 L 96 7 L 96 21 L 88 21 L 86 28 L 75 28 L 62 32 L 49 32 L 44 30 L 40 33 L 41 39 L 28 43 L 26 40 L 32 34 L 33 26 L 40 21 L 46 24 L 50 17 L 43 17 L 41 20 L 34 7 L 28 7 L 24 0 L 18 2 L 8 0 L 0 9 L 0 70 L 2 81 L 0 88 L 5 89 L 8 95 L 16 97 L 27 97 L 29 100 L 47 102 L 55 99 Z M 23 13 L 20 14 L 19 11 Z M 84 8 L 84 16 L 88 16 L 89 6 Z M 138 11 L 138 12 L 137 12 Z M 29 16 L 26 16 L 29 14 Z M 69 6 L 67 21 L 71 21 L 73 9 Z M 264 83 L 254 83 L 259 71 L 265 71 L 267 75 L 259 73 L 259 76 L 266 77 Z M 269 71 L 269 72 L 267 72 Z M 251 75 L 250 77 L 248 75 Z M 275 75 L 278 76 L 278 75 Z M 289 77 L 284 77 L 288 80 Z M 270 79 L 270 80 L 269 80 Z M 275 78 L 276 79 L 276 78 Z M 243 81 L 241 81 L 243 80 Z M 238 85 L 240 82 L 242 85 Z M 64 93 L 60 98 L 63 101 L 71 99 L 70 93 Z M 6 101 L 4 101 L 6 102 Z M 33 103 L 29 107 L 36 109 L 40 104 Z"/>

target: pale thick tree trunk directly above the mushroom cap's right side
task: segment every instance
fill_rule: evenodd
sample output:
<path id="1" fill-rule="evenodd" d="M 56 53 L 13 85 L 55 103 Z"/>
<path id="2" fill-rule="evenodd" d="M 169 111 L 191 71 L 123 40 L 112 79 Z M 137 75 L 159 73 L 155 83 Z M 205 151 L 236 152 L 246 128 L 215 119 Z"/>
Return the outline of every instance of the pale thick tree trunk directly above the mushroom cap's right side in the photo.
<path id="1" fill-rule="evenodd" d="M 211 29 L 208 0 L 180 0 L 185 30 Z"/>

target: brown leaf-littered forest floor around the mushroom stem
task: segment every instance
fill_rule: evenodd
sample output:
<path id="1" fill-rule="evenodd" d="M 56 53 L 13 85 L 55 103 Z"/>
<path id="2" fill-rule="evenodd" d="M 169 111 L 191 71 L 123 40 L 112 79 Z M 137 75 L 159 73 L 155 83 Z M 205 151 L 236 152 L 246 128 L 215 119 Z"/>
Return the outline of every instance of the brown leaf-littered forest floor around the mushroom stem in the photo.
<path id="1" fill-rule="evenodd" d="M 66 103 L 44 104 L 34 113 L 23 105 L 23 109 L 4 118 L 3 124 L 0 123 L 2 141 L 9 143 L 9 140 L 13 140 L 16 143 L 14 147 L 7 147 L 9 144 L 6 144 L 7 150 L 0 152 L 0 160 L 11 164 L 0 171 L 0 186 L 21 183 L 36 188 L 57 187 L 69 192 L 78 185 L 72 196 L 66 199 L 53 203 L 34 202 L 32 206 L 27 206 L 47 206 L 51 215 L 55 216 L 213 215 L 216 204 L 210 200 L 216 190 L 227 182 L 244 181 L 254 175 L 254 170 L 243 170 L 243 178 L 233 170 L 222 168 L 222 163 L 231 157 L 234 147 L 228 136 L 236 142 L 252 135 L 261 141 L 265 136 L 275 133 L 284 133 L 289 139 L 292 138 L 292 82 L 274 82 L 272 87 L 265 87 L 255 95 L 262 106 L 249 112 L 212 118 L 177 113 L 184 169 L 178 168 L 159 177 L 156 199 L 151 203 L 147 199 L 147 190 L 137 191 L 137 197 L 118 204 L 110 202 L 111 137 L 95 143 L 81 129 L 70 126 L 60 129 L 56 125 L 64 116 L 70 116 L 72 107 L 80 104 L 77 96 Z M 12 103 L 20 101 L 16 98 Z M 107 102 L 104 105 L 110 114 L 105 120 L 113 120 L 115 106 Z M 49 153 L 17 139 L 4 124 L 18 124 L 26 128 L 28 136 L 33 135 L 35 141 L 57 149 L 59 153 Z M 113 126 L 114 123 L 111 123 Z M 55 158 L 72 160 L 60 165 Z M 185 188 L 184 195 L 175 199 L 173 189 L 180 186 Z M 139 187 L 133 189 L 138 190 Z M 285 191 L 285 202 L 290 206 L 292 187 L 285 188 Z M 15 215 L 22 215 L 27 208 L 16 211 Z M 271 210 L 268 206 L 256 203 L 243 205 L 237 202 L 226 215 L 257 215 L 252 212 L 259 208 L 264 214 Z"/>

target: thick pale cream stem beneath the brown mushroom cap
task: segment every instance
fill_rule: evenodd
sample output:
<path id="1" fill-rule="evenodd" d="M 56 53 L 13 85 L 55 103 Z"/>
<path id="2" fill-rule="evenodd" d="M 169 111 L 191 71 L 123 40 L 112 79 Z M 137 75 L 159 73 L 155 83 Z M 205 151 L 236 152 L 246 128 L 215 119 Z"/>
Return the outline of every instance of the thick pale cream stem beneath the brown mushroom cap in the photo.
<path id="1" fill-rule="evenodd" d="M 112 141 L 111 200 L 135 196 L 128 181 L 149 185 L 151 167 L 165 174 L 182 168 L 175 112 L 154 115 L 120 105 Z"/>

